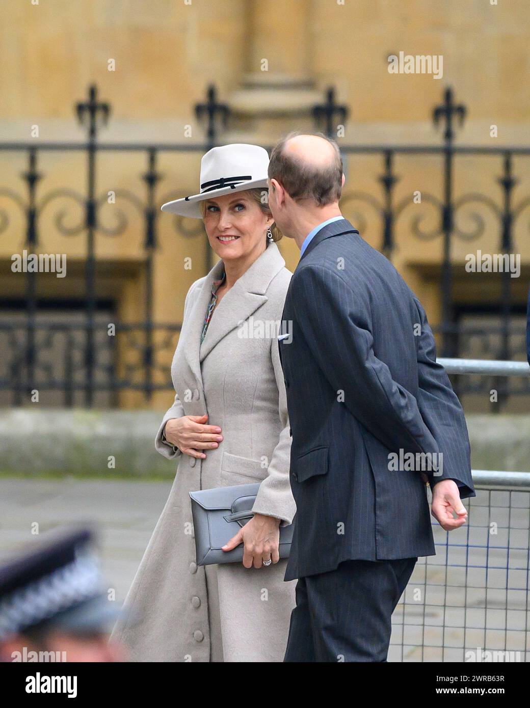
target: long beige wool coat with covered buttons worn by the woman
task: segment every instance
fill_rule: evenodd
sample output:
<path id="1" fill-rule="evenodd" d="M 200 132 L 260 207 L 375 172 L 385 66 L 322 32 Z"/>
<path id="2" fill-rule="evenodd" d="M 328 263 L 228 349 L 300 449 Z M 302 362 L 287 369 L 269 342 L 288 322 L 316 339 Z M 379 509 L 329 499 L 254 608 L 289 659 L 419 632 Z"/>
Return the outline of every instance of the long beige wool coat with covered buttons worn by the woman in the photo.
<path id="1" fill-rule="evenodd" d="M 222 297 L 201 344 L 219 261 L 193 283 L 171 365 L 174 404 L 157 433 L 157 450 L 178 462 L 169 498 L 130 587 L 125 607 L 140 617 L 118 622 L 130 661 L 283 661 L 295 581 L 286 561 L 197 567 L 189 492 L 260 481 L 254 511 L 291 523 L 291 435 L 278 355 L 278 324 L 291 272 L 268 244 Z M 202 416 L 222 428 L 205 459 L 162 442 L 166 421 Z"/>

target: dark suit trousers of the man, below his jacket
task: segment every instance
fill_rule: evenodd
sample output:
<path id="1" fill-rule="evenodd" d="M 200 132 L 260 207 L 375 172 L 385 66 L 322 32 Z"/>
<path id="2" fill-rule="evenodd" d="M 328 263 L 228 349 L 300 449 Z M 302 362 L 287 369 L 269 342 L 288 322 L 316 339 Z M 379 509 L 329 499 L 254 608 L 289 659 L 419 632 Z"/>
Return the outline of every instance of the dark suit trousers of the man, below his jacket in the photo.
<path id="1" fill-rule="evenodd" d="M 416 561 L 343 561 L 299 578 L 283 661 L 386 661 L 392 613 Z"/>

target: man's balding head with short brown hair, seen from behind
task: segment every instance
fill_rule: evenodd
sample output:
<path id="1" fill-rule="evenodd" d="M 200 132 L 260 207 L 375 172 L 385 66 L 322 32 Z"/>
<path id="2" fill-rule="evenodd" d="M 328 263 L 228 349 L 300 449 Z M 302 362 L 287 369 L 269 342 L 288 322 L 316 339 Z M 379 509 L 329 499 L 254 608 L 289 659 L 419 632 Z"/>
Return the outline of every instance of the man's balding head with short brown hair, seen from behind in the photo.
<path id="1" fill-rule="evenodd" d="M 275 179 L 295 201 L 325 206 L 338 202 L 342 190 L 339 146 L 322 133 L 293 132 L 271 154 L 269 179 Z"/>

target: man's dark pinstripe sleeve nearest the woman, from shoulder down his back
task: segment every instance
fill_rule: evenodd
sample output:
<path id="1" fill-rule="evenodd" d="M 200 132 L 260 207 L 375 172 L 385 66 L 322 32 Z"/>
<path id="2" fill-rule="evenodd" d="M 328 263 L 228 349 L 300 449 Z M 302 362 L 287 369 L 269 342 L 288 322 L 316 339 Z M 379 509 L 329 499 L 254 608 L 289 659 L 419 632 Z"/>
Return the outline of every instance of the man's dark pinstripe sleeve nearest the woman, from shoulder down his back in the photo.
<path id="1" fill-rule="evenodd" d="M 437 453 L 415 397 L 374 353 L 368 292 L 319 265 L 295 273 L 291 288 L 302 334 L 351 415 L 393 452 Z"/>

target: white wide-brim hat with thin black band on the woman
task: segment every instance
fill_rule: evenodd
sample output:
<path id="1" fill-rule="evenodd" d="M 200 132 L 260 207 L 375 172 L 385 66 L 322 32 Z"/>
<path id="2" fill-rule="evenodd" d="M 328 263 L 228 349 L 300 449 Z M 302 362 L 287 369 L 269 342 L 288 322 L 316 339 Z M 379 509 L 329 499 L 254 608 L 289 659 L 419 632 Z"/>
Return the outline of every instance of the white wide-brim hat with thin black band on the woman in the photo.
<path id="1" fill-rule="evenodd" d="M 269 154 L 259 145 L 234 143 L 213 147 L 201 160 L 201 192 L 175 199 L 160 207 L 163 212 L 202 218 L 199 202 L 232 192 L 267 186 Z"/>

